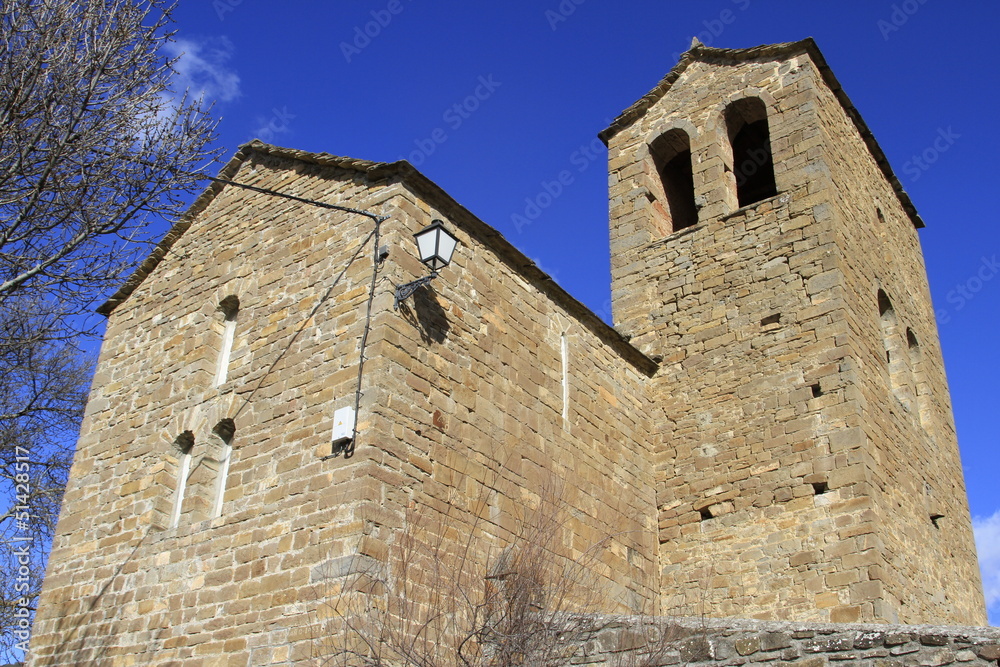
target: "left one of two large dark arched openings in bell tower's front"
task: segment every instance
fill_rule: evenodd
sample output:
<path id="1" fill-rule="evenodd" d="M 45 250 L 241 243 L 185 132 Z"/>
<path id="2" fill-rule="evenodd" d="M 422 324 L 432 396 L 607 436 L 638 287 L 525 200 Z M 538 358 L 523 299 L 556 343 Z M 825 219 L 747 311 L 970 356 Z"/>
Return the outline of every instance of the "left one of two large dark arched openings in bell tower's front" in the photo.
<path id="1" fill-rule="evenodd" d="M 668 217 L 670 231 L 676 232 L 698 224 L 698 207 L 694 203 L 691 140 L 687 133 L 676 128 L 664 132 L 650 144 L 649 152 L 660 177 L 663 212 Z"/>

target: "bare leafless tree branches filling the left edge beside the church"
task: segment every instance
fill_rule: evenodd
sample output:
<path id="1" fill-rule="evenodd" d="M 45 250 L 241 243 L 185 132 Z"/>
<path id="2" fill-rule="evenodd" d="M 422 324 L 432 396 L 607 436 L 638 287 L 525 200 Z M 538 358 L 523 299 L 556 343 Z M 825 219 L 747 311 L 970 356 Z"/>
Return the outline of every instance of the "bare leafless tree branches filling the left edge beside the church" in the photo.
<path id="1" fill-rule="evenodd" d="M 86 314 L 218 157 L 209 109 L 171 90 L 172 10 L 0 3 L 0 659 L 41 585 L 89 382 Z"/>

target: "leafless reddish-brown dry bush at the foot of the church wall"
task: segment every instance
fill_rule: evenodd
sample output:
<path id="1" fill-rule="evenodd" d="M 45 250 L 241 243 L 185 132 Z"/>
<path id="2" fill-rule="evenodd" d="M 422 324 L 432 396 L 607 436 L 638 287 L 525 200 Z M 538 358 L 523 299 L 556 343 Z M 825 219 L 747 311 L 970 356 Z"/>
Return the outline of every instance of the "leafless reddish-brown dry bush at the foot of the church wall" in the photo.
<path id="1" fill-rule="evenodd" d="M 458 511 L 455 493 L 449 502 L 427 496 L 411 503 L 383 560 L 357 556 L 350 572 L 324 582 L 313 664 L 569 664 L 583 639 L 606 623 L 589 612 L 607 601 L 601 582 L 611 536 L 567 557 L 569 508 L 561 486 L 545 484 L 505 522 L 490 502 L 498 496 L 500 475 L 494 477 L 479 485 L 467 514 Z M 620 633 L 627 645 L 613 651 L 612 664 L 664 664 L 670 632 L 642 616 L 618 617 L 614 625 L 622 623 L 630 628 Z"/>

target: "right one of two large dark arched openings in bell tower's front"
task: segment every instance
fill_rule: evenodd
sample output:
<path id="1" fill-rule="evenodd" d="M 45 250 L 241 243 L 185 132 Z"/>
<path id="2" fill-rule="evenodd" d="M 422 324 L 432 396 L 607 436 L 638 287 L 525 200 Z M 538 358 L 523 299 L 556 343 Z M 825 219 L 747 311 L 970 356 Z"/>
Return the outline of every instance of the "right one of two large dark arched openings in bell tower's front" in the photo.
<path id="1" fill-rule="evenodd" d="M 730 104 L 726 108 L 726 130 L 733 149 L 733 176 L 739 205 L 747 206 L 778 194 L 764 103 L 756 97 L 748 97 Z"/>

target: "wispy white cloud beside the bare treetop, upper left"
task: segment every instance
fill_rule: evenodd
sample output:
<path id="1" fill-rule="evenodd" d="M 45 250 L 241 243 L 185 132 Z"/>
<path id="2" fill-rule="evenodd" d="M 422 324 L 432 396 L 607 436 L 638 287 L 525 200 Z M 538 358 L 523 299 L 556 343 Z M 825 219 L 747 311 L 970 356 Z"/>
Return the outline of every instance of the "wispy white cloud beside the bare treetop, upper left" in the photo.
<path id="1" fill-rule="evenodd" d="M 174 90 L 178 95 L 186 90 L 208 103 L 229 102 L 240 96 L 240 77 L 228 67 L 234 49 L 227 38 L 176 39 L 163 51 L 176 58 Z"/>

